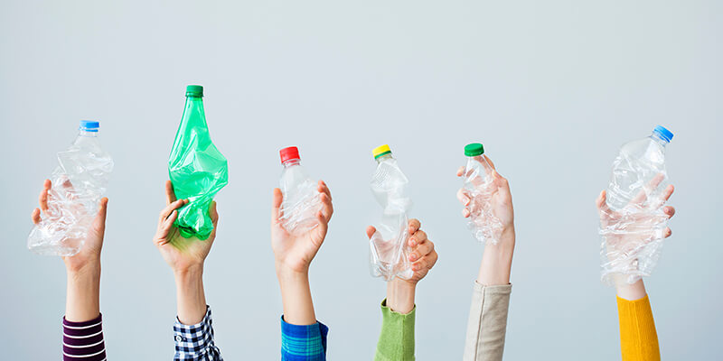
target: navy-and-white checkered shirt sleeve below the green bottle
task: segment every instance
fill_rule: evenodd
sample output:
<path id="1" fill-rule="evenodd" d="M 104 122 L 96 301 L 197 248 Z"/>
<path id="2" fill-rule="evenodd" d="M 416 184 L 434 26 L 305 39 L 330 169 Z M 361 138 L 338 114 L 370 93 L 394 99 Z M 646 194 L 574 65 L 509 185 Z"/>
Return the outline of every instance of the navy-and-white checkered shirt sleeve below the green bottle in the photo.
<path id="1" fill-rule="evenodd" d="M 195 325 L 183 325 L 178 318 L 174 324 L 174 361 L 223 361 L 219 347 L 213 342 L 211 308 Z"/>

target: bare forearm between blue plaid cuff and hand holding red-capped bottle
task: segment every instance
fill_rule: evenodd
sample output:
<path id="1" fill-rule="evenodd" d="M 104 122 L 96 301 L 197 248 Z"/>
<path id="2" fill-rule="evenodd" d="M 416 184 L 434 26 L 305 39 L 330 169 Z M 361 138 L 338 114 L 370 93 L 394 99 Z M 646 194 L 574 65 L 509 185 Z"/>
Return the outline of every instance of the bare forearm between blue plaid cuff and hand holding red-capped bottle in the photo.
<path id="1" fill-rule="evenodd" d="M 292 325 L 316 323 L 308 272 L 295 272 L 277 265 L 281 301 L 284 304 L 284 320 Z"/>

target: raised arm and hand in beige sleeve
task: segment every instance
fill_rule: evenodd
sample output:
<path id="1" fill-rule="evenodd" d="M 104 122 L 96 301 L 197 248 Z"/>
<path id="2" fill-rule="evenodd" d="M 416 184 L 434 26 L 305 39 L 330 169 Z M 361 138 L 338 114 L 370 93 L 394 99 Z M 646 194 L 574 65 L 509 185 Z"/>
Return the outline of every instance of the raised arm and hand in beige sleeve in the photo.
<path id="1" fill-rule="evenodd" d="M 472 305 L 467 321 L 465 340 L 465 361 L 502 360 L 504 338 L 507 332 L 507 310 L 510 306 L 510 273 L 514 254 L 514 210 L 509 182 L 494 169 L 494 163 L 483 155 L 493 168 L 493 193 L 489 201 L 493 214 L 502 222 L 498 242 L 484 245 L 482 262 L 474 282 Z M 460 168 L 457 176 L 462 177 L 465 169 Z M 457 199 L 465 207 L 462 216 L 470 217 L 467 206 L 471 199 L 464 190 L 457 192 Z"/>

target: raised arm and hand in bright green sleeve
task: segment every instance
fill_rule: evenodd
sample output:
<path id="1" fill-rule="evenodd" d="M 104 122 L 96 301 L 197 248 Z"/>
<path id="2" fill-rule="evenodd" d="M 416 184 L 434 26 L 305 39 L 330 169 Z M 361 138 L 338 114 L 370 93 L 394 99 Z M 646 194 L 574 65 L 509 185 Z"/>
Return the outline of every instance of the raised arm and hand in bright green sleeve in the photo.
<path id="1" fill-rule="evenodd" d="M 387 282 L 387 298 L 381 301 L 381 332 L 374 354 L 375 361 L 414 360 L 415 353 L 415 293 L 417 284 L 429 270 L 437 264 L 435 244 L 420 229 L 418 219 L 410 219 L 408 224 L 409 262 L 412 263 L 412 277 L 408 280 L 395 277 Z M 376 232 L 367 227 L 367 236 Z"/>

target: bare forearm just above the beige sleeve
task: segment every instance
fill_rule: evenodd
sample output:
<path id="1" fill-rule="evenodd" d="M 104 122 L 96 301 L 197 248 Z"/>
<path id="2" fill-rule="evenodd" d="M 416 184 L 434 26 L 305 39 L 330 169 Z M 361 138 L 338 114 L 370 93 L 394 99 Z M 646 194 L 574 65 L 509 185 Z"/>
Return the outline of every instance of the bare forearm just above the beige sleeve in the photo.
<path id="1" fill-rule="evenodd" d="M 477 274 L 477 282 L 485 286 L 510 283 L 512 255 L 514 253 L 514 227 L 502 231 L 496 245 L 484 245 L 484 254 Z"/>

